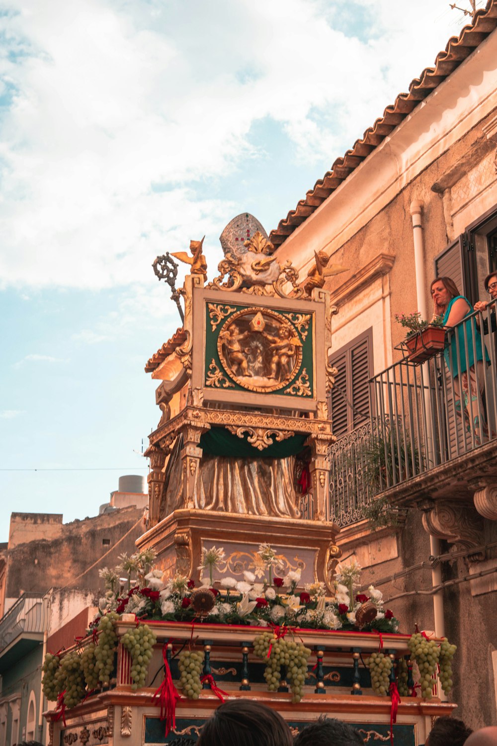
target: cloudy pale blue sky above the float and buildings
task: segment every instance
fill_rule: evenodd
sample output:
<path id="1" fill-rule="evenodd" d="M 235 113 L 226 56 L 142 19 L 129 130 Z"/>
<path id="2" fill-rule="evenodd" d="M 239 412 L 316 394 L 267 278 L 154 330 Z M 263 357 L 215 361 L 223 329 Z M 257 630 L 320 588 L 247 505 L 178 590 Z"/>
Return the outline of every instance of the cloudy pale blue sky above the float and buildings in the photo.
<path id="1" fill-rule="evenodd" d="M 179 325 L 153 259 L 205 234 L 214 277 L 229 220 L 276 228 L 467 21 L 448 0 L 0 1 L 0 542 L 12 512 L 82 519 L 147 474 L 144 366 Z"/>

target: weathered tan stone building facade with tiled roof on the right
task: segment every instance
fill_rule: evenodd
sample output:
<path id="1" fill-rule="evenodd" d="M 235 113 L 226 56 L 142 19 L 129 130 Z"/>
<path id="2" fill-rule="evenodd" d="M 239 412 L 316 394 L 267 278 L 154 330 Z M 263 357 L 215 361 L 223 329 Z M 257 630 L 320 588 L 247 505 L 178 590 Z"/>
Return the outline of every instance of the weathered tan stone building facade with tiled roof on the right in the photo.
<path id="1" fill-rule="evenodd" d="M 405 329 L 396 314 L 420 310 L 431 319 L 436 274 L 452 275 L 474 304 L 486 295 L 485 276 L 497 272 L 496 26 L 497 5 L 489 1 L 270 233 L 279 261 L 291 260 L 301 279 L 317 251 L 330 266 L 348 268 L 325 283 L 337 309 L 328 350 L 338 369 L 329 401 L 338 436 L 330 516 L 341 525 L 344 555 L 363 565 L 366 585 L 379 584 L 405 624 L 436 629 L 458 645 L 452 698 L 456 716 L 472 727 L 496 721 L 495 355 L 487 368 L 485 442 L 473 440 L 457 454 L 449 442 L 438 462 L 427 457 L 414 474 L 376 488 L 376 499 L 400 507 L 395 526 L 371 533 L 362 510 L 371 495 L 357 459 L 361 439 L 379 421 L 390 434 L 394 420 L 401 430 L 408 421 L 400 412 L 408 386 L 398 377 L 407 363 L 397 348 Z M 490 351 L 493 344 L 487 336 Z M 413 386 L 428 375 L 426 395 L 445 385 L 440 360 L 429 372 L 410 367 Z M 391 401 L 378 392 L 395 398 L 401 385 L 395 419 Z M 431 404 L 425 422 L 440 418 Z"/>

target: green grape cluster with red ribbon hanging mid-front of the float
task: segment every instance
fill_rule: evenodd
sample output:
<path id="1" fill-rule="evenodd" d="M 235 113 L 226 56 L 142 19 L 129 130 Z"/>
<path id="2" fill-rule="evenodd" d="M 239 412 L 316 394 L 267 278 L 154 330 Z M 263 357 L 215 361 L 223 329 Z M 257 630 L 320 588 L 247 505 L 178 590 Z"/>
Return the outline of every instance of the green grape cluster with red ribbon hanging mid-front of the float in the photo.
<path id="1" fill-rule="evenodd" d="M 308 658 L 311 655 L 309 648 L 306 648 L 302 642 L 287 640 L 283 637 L 277 639 L 273 633 L 265 632 L 256 637 L 253 649 L 258 658 L 267 661 L 264 677 L 269 691 L 276 692 L 278 689 L 282 666 L 285 666 L 286 677 L 290 682 L 292 702 L 300 702 L 306 683 Z"/>

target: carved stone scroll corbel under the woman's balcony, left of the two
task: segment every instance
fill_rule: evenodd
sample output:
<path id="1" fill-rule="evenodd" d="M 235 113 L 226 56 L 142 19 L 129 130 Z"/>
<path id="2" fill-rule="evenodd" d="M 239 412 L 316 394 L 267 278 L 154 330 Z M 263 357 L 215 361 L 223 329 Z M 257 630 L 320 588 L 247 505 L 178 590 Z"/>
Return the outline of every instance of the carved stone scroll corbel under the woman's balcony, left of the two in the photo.
<path id="1" fill-rule="evenodd" d="M 425 531 L 438 539 L 446 539 L 457 548 L 471 550 L 484 542 L 484 526 L 481 516 L 465 504 L 446 501 L 426 501 L 422 515 Z M 483 559 L 475 555 L 474 559 Z"/>

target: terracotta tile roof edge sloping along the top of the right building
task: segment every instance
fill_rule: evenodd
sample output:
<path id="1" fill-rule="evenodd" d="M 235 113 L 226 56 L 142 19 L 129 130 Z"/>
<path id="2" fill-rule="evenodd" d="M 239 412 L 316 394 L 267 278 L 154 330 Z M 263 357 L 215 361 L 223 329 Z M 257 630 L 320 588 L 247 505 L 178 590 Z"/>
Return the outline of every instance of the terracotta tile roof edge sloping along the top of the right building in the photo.
<path id="1" fill-rule="evenodd" d="M 270 242 L 275 248 L 314 213 L 314 210 L 362 163 L 364 158 L 417 107 L 420 101 L 439 86 L 447 75 L 469 57 L 475 47 L 496 27 L 497 0 L 488 0 L 486 7 L 476 11 L 473 22 L 464 26 L 458 37 L 449 39 L 445 50 L 437 54 L 434 67 L 425 68 L 419 78 L 414 78 L 409 85 L 409 93 L 399 93 L 395 103 L 386 107 L 383 116 L 376 119 L 373 127 L 367 128 L 363 137 L 356 140 L 343 157 L 335 160 L 332 170 L 317 180 L 314 189 L 309 189 L 306 198 L 299 201 L 295 210 L 290 210 L 286 218 L 279 221 L 278 227 L 269 234 Z"/>

